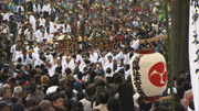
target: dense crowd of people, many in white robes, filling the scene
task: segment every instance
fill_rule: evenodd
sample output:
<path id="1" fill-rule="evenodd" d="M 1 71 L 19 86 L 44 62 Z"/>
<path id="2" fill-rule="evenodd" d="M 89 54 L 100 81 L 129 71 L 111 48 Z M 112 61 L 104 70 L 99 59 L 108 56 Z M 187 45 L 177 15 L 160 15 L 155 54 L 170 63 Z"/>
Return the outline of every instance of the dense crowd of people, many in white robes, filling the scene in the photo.
<path id="1" fill-rule="evenodd" d="M 2 0 L 0 110 L 169 111 L 170 100 L 164 98 L 169 90 L 144 101 L 129 69 L 143 47 L 167 58 L 165 41 L 139 45 L 139 40 L 166 35 L 160 9 L 153 0 Z M 64 49 L 56 41 L 61 35 L 78 41 Z M 102 44 L 88 42 L 97 35 Z M 192 103 L 187 77 L 180 71 L 174 80 L 176 111 Z"/>

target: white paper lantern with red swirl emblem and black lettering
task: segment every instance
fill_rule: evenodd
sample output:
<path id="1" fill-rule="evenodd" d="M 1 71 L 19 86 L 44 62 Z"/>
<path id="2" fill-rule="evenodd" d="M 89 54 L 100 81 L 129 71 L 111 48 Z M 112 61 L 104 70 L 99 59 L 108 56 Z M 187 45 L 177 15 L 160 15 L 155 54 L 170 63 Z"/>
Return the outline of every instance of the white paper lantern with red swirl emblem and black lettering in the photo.
<path id="1" fill-rule="evenodd" d="M 146 101 L 158 99 L 167 87 L 167 67 L 164 56 L 154 52 L 139 52 L 130 60 L 134 89 Z"/>

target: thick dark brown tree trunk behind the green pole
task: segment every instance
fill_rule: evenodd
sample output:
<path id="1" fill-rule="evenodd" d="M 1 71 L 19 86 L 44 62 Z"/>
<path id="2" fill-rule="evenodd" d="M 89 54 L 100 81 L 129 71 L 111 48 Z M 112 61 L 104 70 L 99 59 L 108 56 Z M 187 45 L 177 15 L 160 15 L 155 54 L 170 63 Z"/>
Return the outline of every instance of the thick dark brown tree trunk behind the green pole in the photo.
<path id="1" fill-rule="evenodd" d="M 189 71 L 189 0 L 172 0 L 171 5 L 171 64 L 172 75 L 176 75 L 180 70 Z"/>

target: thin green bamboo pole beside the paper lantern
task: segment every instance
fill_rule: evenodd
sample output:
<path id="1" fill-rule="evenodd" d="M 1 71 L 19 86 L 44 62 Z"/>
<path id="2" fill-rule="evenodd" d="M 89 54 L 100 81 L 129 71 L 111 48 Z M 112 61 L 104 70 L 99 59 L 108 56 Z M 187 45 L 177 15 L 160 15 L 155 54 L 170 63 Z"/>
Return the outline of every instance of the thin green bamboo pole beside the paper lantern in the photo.
<path id="1" fill-rule="evenodd" d="M 168 24 L 168 8 L 167 0 L 165 0 L 165 16 L 166 16 L 166 29 L 167 29 L 167 48 L 168 48 L 168 75 L 169 75 L 169 84 L 170 84 L 170 95 L 171 95 L 171 111 L 175 111 L 175 96 L 172 90 L 172 74 L 171 74 L 171 53 L 170 53 L 170 33 L 169 33 L 169 24 Z"/>

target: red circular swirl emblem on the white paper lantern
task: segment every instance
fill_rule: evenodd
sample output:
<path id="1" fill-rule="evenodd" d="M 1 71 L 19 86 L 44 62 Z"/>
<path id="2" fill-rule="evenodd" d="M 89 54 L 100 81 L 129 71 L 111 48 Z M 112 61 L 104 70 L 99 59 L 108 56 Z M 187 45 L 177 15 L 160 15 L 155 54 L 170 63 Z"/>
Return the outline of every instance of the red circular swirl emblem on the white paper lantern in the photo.
<path id="1" fill-rule="evenodd" d="M 167 84 L 166 65 L 163 62 L 156 63 L 148 73 L 150 82 L 156 87 L 164 87 Z"/>

